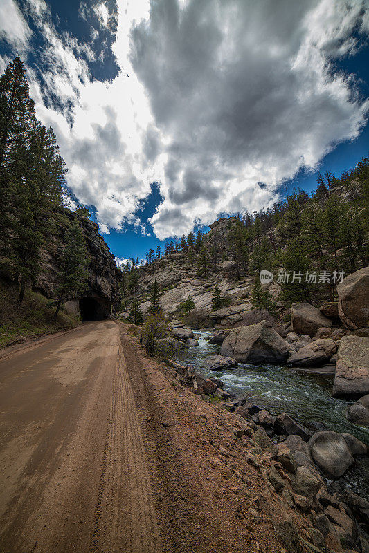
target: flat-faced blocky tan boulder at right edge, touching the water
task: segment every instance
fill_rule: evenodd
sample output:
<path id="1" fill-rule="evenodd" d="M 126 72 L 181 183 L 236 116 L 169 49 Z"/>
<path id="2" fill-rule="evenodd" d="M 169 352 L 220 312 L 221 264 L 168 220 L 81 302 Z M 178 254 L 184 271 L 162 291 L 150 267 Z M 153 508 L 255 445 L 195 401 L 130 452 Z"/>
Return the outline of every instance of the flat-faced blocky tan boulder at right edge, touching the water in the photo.
<path id="1" fill-rule="evenodd" d="M 344 336 L 339 345 L 334 397 L 361 397 L 369 393 L 369 338 Z"/>

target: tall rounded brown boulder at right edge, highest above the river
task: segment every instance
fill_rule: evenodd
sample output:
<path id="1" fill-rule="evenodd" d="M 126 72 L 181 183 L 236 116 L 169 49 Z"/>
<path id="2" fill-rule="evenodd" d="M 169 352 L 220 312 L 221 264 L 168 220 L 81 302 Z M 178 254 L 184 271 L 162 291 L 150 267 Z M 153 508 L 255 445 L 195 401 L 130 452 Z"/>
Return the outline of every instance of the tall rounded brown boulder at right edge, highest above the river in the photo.
<path id="1" fill-rule="evenodd" d="M 369 267 L 363 267 L 337 286 L 339 317 L 346 328 L 369 326 Z"/>

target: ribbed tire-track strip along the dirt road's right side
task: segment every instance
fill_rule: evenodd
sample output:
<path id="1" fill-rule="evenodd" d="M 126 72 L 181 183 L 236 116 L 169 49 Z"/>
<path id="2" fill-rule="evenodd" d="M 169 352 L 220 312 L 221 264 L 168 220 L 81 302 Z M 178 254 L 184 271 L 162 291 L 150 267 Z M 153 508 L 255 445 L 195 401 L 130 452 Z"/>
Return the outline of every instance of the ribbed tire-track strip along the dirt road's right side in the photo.
<path id="1" fill-rule="evenodd" d="M 143 436 L 120 346 L 90 552 L 157 553 L 158 542 Z"/>

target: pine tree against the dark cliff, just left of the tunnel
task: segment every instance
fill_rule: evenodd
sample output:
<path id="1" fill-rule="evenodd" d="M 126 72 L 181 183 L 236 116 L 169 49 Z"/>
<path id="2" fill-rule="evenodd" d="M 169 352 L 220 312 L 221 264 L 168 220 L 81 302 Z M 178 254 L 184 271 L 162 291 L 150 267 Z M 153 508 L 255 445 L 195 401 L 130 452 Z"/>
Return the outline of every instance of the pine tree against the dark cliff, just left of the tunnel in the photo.
<path id="1" fill-rule="evenodd" d="M 66 297 L 82 294 L 86 290 L 87 278 L 89 276 L 88 265 L 89 258 L 86 246 L 84 245 L 82 230 L 78 223 L 75 222 L 67 232 L 62 267 L 57 275 L 59 285 L 56 290 L 57 308 L 55 317 Z"/>

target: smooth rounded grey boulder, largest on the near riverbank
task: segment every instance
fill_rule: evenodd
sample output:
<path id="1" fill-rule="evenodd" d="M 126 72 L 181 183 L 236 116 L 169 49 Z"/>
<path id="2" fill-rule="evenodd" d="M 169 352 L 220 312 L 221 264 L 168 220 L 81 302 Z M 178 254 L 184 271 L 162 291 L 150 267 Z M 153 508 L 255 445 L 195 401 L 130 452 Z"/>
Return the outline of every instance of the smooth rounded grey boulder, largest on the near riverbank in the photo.
<path id="1" fill-rule="evenodd" d="M 367 451 L 366 445 L 354 436 L 332 430 L 316 432 L 310 438 L 308 446 L 316 465 L 331 478 L 339 478 L 345 474 L 354 464 L 354 455 L 363 455 Z"/>

